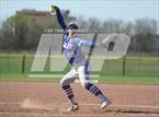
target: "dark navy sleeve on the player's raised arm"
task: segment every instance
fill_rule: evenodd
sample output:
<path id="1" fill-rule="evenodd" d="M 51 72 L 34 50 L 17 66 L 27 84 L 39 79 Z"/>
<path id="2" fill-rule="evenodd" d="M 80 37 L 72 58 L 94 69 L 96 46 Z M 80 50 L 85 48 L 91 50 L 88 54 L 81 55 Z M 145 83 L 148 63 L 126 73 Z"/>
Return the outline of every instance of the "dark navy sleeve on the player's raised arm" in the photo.
<path id="1" fill-rule="evenodd" d="M 64 31 L 67 30 L 67 25 L 66 25 L 66 23 L 65 23 L 65 21 L 64 21 L 64 17 L 63 17 L 61 12 L 60 12 L 59 9 L 56 11 L 56 17 L 57 17 L 57 21 L 58 21 L 60 27 L 61 27 Z"/>

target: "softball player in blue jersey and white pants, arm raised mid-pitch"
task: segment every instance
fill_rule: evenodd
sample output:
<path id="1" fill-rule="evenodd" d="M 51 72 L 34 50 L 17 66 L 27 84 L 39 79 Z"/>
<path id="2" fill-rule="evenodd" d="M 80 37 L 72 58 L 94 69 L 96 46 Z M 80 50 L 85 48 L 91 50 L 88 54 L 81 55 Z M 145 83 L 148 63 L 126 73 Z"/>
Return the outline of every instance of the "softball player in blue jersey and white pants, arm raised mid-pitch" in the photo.
<path id="1" fill-rule="evenodd" d="M 92 42 L 81 38 L 77 33 L 77 24 L 70 23 L 67 26 L 60 10 L 56 5 L 52 5 L 52 12 L 56 13 L 57 21 L 64 31 L 63 51 L 69 63 L 72 66 L 72 69 L 60 81 L 61 89 L 70 102 L 70 108 L 68 112 L 75 112 L 79 109 L 78 103 L 75 100 L 75 95 L 70 86 L 70 83 L 72 83 L 77 77 L 79 78 L 81 85 L 100 100 L 101 108 L 105 108 L 111 104 L 111 102 L 98 86 L 90 82 L 88 61 L 80 49 L 82 46 L 92 47 L 93 45 L 95 47 L 99 44 L 92 44 Z M 66 32 L 67 30 L 68 32 Z"/>

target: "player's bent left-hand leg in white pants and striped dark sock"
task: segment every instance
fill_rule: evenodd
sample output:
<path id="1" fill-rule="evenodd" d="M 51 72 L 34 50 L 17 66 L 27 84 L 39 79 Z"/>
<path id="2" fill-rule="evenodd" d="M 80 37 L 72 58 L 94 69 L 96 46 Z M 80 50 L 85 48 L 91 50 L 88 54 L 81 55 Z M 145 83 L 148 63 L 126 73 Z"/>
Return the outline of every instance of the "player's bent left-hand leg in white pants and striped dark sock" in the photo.
<path id="1" fill-rule="evenodd" d="M 72 83 L 77 77 L 78 77 L 77 71 L 75 69 L 72 69 L 60 80 L 61 89 L 63 89 L 64 93 L 67 95 L 69 103 L 70 103 L 69 110 L 78 109 L 78 107 L 77 107 L 78 105 L 75 100 L 72 89 L 70 86 L 70 83 Z"/>

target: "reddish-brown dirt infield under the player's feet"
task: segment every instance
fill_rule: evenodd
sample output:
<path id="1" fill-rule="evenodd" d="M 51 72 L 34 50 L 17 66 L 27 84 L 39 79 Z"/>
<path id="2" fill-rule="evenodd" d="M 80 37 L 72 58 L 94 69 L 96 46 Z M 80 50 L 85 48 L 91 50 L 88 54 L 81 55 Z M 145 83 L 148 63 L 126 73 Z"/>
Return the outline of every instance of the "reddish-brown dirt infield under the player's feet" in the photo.
<path id="1" fill-rule="evenodd" d="M 96 84 L 113 104 L 72 84 L 80 109 L 67 113 L 68 101 L 57 83 L 0 82 L 0 117 L 159 117 L 159 85 Z"/>

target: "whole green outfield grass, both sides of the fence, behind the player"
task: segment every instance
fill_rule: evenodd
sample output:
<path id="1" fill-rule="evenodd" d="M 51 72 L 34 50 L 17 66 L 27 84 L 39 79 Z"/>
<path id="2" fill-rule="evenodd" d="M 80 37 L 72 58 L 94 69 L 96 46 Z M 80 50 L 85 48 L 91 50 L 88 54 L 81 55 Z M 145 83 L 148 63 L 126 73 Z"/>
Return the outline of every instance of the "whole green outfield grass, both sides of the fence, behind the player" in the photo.
<path id="1" fill-rule="evenodd" d="M 56 56 L 54 67 L 60 67 L 63 57 Z M 21 54 L 0 54 L 0 81 L 59 81 L 59 78 L 29 78 L 31 66 L 34 59 L 33 55 L 25 55 L 24 73 L 23 55 Z M 92 57 L 93 66 L 98 68 L 99 63 L 104 60 L 98 79 L 102 83 L 139 83 L 139 84 L 159 84 L 159 57 L 126 57 L 125 75 L 123 77 L 123 58 L 116 60 L 105 59 L 103 57 Z M 49 59 L 48 59 L 49 61 Z M 70 67 L 63 71 L 50 72 L 49 62 L 46 63 L 42 73 L 63 73 L 68 72 Z"/>

